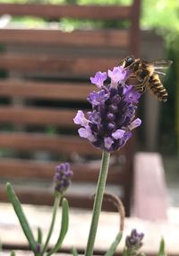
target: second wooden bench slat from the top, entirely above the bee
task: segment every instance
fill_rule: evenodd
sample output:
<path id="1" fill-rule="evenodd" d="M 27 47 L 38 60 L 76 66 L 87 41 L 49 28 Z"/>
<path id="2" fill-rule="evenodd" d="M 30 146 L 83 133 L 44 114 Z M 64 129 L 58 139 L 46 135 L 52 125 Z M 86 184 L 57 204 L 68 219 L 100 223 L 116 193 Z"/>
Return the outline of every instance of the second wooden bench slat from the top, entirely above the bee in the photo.
<path id="1" fill-rule="evenodd" d="M 95 40 L 94 40 L 95 39 Z M 72 31 L 1 29 L 1 43 L 65 45 L 72 47 L 129 47 L 128 31 Z"/>

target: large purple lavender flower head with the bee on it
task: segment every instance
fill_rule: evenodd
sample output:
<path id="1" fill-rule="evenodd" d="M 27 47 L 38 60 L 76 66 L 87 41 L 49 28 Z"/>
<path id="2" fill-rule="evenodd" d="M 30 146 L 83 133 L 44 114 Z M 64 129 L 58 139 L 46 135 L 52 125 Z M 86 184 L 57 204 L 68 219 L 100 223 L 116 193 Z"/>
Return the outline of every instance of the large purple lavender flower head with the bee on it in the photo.
<path id="1" fill-rule="evenodd" d="M 114 152 L 132 137 L 132 129 L 141 125 L 141 119 L 135 118 L 141 93 L 125 84 L 128 76 L 123 66 L 108 70 L 108 76 L 111 84 L 107 86 L 103 84 L 107 79 L 106 72 L 98 72 L 91 78 L 99 88 L 87 98 L 92 110 L 87 113 L 88 118 L 79 110 L 74 122 L 81 125 L 80 137 L 87 138 L 93 146 Z"/>

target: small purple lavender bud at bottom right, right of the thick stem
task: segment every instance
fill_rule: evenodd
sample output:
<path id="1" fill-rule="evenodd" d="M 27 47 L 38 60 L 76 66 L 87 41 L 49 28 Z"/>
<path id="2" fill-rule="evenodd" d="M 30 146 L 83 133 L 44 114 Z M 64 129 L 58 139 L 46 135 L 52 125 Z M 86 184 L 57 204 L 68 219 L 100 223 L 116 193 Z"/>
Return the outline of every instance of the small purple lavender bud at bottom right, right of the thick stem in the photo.
<path id="1" fill-rule="evenodd" d="M 126 237 L 125 246 L 127 250 L 131 252 L 131 254 L 132 252 L 137 252 L 141 248 L 141 246 L 143 245 L 143 243 L 141 242 L 143 237 L 144 234 L 138 233 L 136 229 L 132 229 L 132 233 Z M 132 255 L 137 255 L 137 253 Z"/>

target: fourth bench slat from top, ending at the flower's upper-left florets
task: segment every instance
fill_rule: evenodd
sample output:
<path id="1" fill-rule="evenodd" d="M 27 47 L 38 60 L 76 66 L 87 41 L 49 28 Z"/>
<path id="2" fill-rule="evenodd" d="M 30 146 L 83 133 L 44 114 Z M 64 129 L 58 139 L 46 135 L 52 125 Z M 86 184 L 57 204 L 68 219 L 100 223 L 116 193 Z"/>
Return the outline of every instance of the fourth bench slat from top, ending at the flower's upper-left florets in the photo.
<path id="1" fill-rule="evenodd" d="M 86 101 L 88 94 L 97 90 L 88 83 L 37 82 L 17 79 L 0 79 L 0 96 L 25 99 Z"/>

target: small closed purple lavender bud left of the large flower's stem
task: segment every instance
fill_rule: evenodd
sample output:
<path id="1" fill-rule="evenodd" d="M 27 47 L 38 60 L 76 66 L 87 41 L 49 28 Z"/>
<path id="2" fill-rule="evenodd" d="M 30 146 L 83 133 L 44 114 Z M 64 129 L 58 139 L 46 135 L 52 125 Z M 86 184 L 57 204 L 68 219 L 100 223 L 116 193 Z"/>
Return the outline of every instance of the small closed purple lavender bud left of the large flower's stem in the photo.
<path id="1" fill-rule="evenodd" d="M 71 184 L 72 171 L 69 163 L 61 163 L 55 167 L 55 191 L 64 194 Z"/>

